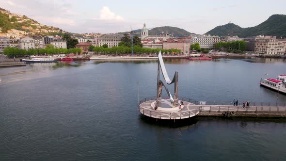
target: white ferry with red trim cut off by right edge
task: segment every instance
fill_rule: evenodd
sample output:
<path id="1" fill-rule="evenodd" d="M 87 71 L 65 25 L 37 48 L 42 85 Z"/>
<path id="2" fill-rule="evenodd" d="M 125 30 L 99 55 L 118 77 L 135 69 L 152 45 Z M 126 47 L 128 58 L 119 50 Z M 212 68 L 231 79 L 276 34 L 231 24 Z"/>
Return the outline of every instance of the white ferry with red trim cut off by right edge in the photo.
<path id="1" fill-rule="evenodd" d="M 286 75 L 280 75 L 276 79 L 262 79 L 260 85 L 281 94 L 286 94 Z"/>

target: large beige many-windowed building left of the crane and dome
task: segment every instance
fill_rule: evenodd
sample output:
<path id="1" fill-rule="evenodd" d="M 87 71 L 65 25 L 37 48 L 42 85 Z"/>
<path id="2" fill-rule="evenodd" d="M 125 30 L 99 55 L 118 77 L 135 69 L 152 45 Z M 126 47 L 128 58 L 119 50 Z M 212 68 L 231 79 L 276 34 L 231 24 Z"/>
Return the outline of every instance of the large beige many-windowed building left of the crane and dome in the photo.
<path id="1" fill-rule="evenodd" d="M 123 36 L 122 34 L 105 34 L 98 38 L 98 46 L 102 47 L 104 44 L 107 44 L 108 48 L 118 47 Z"/>

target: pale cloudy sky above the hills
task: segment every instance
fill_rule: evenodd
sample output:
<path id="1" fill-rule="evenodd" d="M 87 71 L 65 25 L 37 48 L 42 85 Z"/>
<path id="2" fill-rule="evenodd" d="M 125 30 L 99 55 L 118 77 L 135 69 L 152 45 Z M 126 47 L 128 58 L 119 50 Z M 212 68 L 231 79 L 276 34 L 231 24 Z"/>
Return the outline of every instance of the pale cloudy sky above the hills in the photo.
<path id="1" fill-rule="evenodd" d="M 114 33 L 173 26 L 206 33 L 229 23 L 253 27 L 286 14 L 286 0 L 0 0 L 0 7 L 67 32 Z"/>

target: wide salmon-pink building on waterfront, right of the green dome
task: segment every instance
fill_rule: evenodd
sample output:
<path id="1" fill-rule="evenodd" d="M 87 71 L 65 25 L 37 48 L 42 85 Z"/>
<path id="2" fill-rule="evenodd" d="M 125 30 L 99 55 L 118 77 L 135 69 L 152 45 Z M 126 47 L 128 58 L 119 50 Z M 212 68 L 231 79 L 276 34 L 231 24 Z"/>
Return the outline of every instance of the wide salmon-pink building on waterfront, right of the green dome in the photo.
<path id="1" fill-rule="evenodd" d="M 163 41 L 163 49 L 180 49 L 185 55 L 190 54 L 190 41 L 188 39 L 168 39 Z"/>

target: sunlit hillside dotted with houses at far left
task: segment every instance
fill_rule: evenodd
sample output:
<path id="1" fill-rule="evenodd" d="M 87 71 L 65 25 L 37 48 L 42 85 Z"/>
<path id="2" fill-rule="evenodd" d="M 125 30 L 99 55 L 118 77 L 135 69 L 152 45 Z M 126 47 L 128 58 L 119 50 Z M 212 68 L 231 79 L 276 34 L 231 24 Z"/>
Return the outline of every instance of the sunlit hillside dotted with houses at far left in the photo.
<path id="1" fill-rule="evenodd" d="M 21 37 L 25 35 L 50 35 L 62 32 L 59 28 L 42 25 L 25 16 L 13 14 L 0 8 L 0 36 Z"/>

